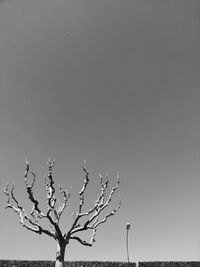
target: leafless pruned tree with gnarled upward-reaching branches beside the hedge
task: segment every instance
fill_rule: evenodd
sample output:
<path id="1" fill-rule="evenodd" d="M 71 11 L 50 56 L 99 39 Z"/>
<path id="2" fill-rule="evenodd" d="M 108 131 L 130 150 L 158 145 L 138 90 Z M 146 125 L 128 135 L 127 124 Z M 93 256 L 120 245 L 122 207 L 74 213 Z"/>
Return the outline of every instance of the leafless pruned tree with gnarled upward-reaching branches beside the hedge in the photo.
<path id="1" fill-rule="evenodd" d="M 68 205 L 68 201 L 70 198 L 71 192 L 68 192 L 67 190 L 63 190 L 61 186 L 59 186 L 59 191 L 63 195 L 63 203 L 60 205 L 58 204 L 59 201 L 57 201 L 57 197 L 55 194 L 55 187 L 54 187 L 54 179 L 52 176 L 52 169 L 54 167 L 55 161 L 49 161 L 48 164 L 48 179 L 45 180 L 45 187 L 47 191 L 47 211 L 43 213 L 41 209 L 39 208 L 39 202 L 35 198 L 33 194 L 33 186 L 36 181 L 36 174 L 35 172 L 30 170 L 29 163 L 26 161 L 26 171 L 24 174 L 24 181 L 26 186 L 26 191 L 28 194 L 29 200 L 32 202 L 33 207 L 31 210 L 30 215 L 27 215 L 25 209 L 23 206 L 19 204 L 17 199 L 14 196 L 14 184 L 12 186 L 9 186 L 8 184 L 4 188 L 4 193 L 7 196 L 7 206 L 6 208 L 11 208 L 14 210 L 19 218 L 20 223 L 23 227 L 26 229 L 37 233 L 39 235 L 46 234 L 52 238 L 54 238 L 57 241 L 57 252 L 56 252 L 56 267 L 63 267 L 64 266 L 64 257 L 65 257 L 65 249 L 66 246 L 69 244 L 69 241 L 71 239 L 78 241 L 80 244 L 84 246 L 91 247 L 93 243 L 95 242 L 95 236 L 97 232 L 97 228 L 105 223 L 109 217 L 114 215 L 118 209 L 120 208 L 121 201 L 119 201 L 118 205 L 112 209 L 110 212 L 108 212 L 106 215 L 104 215 L 102 218 L 100 218 L 100 215 L 102 212 L 110 205 L 110 202 L 112 201 L 113 195 L 115 194 L 116 190 L 119 187 L 120 179 L 119 175 L 117 175 L 117 185 L 110 190 L 110 194 L 108 197 L 106 197 L 106 193 L 108 190 L 108 177 L 104 181 L 102 176 L 100 175 L 100 194 L 97 197 L 97 200 L 95 201 L 94 205 L 91 207 L 91 209 L 87 211 L 83 211 L 83 206 L 85 202 L 85 192 L 89 183 L 89 173 L 85 167 L 85 162 L 83 165 L 83 171 L 85 174 L 83 186 L 79 192 L 79 205 L 78 210 L 73 214 L 73 223 L 71 225 L 71 228 L 66 231 L 66 233 L 63 233 L 59 222 L 61 215 L 63 214 L 63 211 Z M 32 182 L 28 182 L 28 176 L 31 175 Z M 84 218 L 84 219 L 83 219 Z M 48 229 L 44 228 L 40 222 L 41 220 L 47 220 L 50 227 Z M 83 231 L 91 231 L 91 240 L 85 241 L 81 237 L 78 236 L 80 232 Z"/>

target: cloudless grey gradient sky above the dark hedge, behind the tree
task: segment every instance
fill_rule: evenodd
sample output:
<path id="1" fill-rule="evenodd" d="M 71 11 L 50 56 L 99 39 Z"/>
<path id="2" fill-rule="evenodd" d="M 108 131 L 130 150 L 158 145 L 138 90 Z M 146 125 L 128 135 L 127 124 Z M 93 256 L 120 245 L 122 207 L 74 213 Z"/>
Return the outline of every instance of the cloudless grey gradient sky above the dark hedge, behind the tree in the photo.
<path id="1" fill-rule="evenodd" d="M 92 248 L 66 260 L 200 260 L 199 0 L 7 0 L 0 3 L 0 185 L 23 183 L 25 157 L 45 207 L 46 161 L 73 187 L 87 160 L 87 204 L 98 175 L 121 176 L 122 207 Z M 0 258 L 54 260 L 56 243 L 23 229 L 0 192 Z M 44 196 L 43 196 L 44 194 Z M 113 199 L 115 207 L 118 193 Z M 90 238 L 90 237 L 88 237 Z"/>

